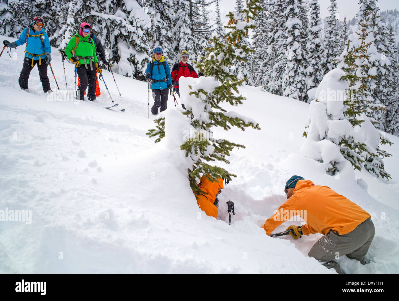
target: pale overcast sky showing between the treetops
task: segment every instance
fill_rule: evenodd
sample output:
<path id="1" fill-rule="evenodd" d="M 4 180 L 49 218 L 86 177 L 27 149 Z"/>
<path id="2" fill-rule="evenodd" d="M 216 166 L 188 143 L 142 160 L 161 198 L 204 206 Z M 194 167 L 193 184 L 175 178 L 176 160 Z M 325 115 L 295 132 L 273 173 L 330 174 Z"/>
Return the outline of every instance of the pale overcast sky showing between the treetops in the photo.
<path id="1" fill-rule="evenodd" d="M 245 3 L 245 1 L 243 1 Z M 320 16 L 321 18 L 326 18 L 329 15 L 328 6 L 330 6 L 330 0 L 319 0 L 320 3 Z M 346 19 L 352 19 L 359 10 L 359 0 L 337 0 L 338 12 L 340 14 L 340 20 L 344 20 L 344 16 Z M 398 0 L 379 0 L 377 1 L 377 6 L 381 11 L 389 10 L 389 9 L 398 9 L 399 10 L 399 1 Z M 233 11 L 235 8 L 235 0 L 220 0 L 220 8 L 222 21 L 227 18 L 225 15 L 229 12 L 229 10 Z"/>

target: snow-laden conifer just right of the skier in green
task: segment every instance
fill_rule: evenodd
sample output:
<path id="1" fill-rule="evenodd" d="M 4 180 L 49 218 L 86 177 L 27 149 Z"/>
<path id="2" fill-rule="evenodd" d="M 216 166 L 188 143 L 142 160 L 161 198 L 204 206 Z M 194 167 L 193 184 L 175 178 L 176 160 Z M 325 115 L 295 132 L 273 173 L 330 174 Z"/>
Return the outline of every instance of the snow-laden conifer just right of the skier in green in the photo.
<path id="1" fill-rule="evenodd" d="M 150 17 L 136 0 L 91 1 L 95 3 L 90 6 L 83 2 L 75 21 L 92 25 L 119 74 L 144 79 L 150 53 Z"/>

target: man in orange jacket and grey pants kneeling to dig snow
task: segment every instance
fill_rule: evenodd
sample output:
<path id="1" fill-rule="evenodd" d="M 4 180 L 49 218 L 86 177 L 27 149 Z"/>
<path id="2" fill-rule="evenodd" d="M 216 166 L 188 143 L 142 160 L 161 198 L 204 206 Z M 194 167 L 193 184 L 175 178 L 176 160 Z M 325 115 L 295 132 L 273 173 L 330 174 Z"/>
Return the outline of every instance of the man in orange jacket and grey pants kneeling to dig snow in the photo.
<path id="1" fill-rule="evenodd" d="M 310 249 L 310 257 L 318 259 L 329 269 L 334 267 L 338 273 L 342 271 L 334 261 L 337 254 L 366 263 L 364 257 L 375 233 L 370 214 L 331 188 L 315 186 L 300 176 L 292 176 L 284 192 L 288 200 L 262 227 L 267 235 L 283 222 L 300 215 L 307 224 L 289 226 L 288 229 L 294 230 L 290 233 L 292 237 L 298 239 L 302 234 L 324 234 Z"/>

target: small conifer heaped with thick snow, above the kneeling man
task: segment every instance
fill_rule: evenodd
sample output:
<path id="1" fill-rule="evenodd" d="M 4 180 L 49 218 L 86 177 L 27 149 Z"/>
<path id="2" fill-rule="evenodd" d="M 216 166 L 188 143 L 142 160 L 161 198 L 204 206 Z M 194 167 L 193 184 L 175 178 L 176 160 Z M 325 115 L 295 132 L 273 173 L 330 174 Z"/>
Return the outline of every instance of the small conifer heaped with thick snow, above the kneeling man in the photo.
<path id="1" fill-rule="evenodd" d="M 361 44 L 367 48 L 364 40 Z M 316 100 L 310 103 L 306 141 L 300 152 L 322 162 L 328 174 L 343 170 L 349 161 L 354 169 L 365 168 L 389 179 L 382 158 L 390 154 L 379 146 L 390 142 L 365 115 L 364 99 L 371 95 L 355 63 L 359 57 L 359 52 L 345 50 L 337 67 L 323 77 Z"/>

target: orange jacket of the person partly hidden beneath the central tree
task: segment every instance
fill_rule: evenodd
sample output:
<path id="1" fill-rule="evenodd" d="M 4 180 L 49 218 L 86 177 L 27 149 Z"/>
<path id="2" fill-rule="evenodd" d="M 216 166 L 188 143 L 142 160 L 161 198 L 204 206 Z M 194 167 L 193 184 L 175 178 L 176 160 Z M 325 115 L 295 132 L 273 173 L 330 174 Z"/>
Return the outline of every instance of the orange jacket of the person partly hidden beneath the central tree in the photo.
<path id="1" fill-rule="evenodd" d="M 198 197 L 197 204 L 202 211 L 208 216 L 217 217 L 217 207 L 213 205 L 215 202 L 217 193 L 220 189 L 223 189 L 223 179 L 219 178 L 216 182 L 211 182 L 204 175 L 201 176 L 201 180 L 197 185 L 202 191 L 208 194 L 196 194 Z"/>

